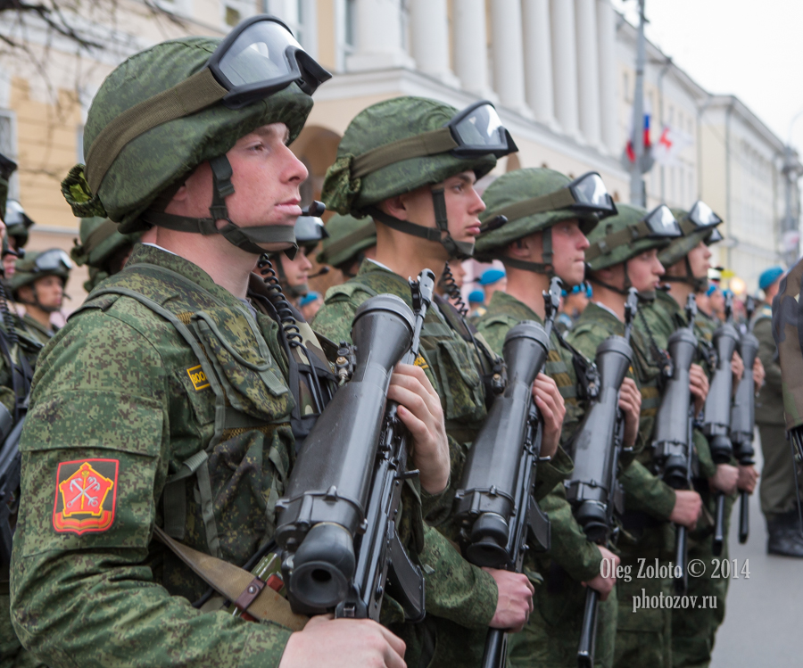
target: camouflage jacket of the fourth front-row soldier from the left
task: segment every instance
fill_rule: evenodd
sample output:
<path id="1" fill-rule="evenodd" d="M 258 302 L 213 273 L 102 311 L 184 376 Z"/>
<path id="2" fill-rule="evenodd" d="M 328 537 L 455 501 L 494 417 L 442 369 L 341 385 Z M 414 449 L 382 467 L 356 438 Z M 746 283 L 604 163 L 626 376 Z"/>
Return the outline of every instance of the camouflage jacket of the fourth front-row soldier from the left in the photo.
<path id="1" fill-rule="evenodd" d="M 567 339 L 590 359 L 596 357 L 597 347 L 608 336 L 625 334 L 625 325 L 608 309 L 603 309 L 595 302 L 590 303 L 577 319 Z M 658 367 L 649 357 L 649 348 L 638 330 L 633 327 L 630 345 L 633 348 L 633 380 L 642 393 L 642 413 L 639 424 L 639 441 L 650 442 L 650 436 L 658 412 L 660 396 L 654 383 L 657 383 Z M 620 481 L 625 488 L 625 509 L 638 513 L 646 513 L 655 520 L 666 522 L 675 507 L 675 491 L 666 482 L 650 473 L 649 466 L 652 453 L 649 448 L 636 446 L 638 450 L 633 465 L 625 470 L 625 479 Z M 639 482 L 627 480 L 633 476 Z M 625 524 L 626 526 L 626 524 Z"/>

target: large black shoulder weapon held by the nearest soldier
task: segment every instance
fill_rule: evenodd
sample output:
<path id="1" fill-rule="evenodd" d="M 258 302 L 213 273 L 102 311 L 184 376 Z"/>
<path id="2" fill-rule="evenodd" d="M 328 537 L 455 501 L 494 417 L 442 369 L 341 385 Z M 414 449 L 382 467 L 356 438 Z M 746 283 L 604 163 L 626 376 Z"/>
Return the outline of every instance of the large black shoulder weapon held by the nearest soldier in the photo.
<path id="1" fill-rule="evenodd" d="M 429 269 L 410 280 L 415 315 L 390 294 L 354 315 L 353 345 L 337 360 L 351 378 L 312 427 L 277 503 L 276 540 L 295 613 L 378 621 L 387 589 L 410 620 L 424 617 L 424 578 L 396 527 L 402 483 L 418 471 L 407 470 L 410 434 L 387 390 L 393 367 L 418 357 L 434 286 Z"/>

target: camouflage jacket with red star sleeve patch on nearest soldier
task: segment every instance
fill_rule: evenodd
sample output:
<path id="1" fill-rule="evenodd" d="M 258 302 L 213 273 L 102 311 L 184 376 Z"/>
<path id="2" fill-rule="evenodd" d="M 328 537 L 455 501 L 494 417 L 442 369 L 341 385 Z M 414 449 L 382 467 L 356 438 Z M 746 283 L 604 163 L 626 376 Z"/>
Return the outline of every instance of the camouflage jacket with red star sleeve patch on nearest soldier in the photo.
<path id="1" fill-rule="evenodd" d="M 277 322 L 150 246 L 110 285 L 130 292 L 90 295 L 37 364 L 16 631 L 57 665 L 275 666 L 290 631 L 189 606 L 206 585 L 153 526 L 235 564 L 271 537 L 294 461 Z"/>

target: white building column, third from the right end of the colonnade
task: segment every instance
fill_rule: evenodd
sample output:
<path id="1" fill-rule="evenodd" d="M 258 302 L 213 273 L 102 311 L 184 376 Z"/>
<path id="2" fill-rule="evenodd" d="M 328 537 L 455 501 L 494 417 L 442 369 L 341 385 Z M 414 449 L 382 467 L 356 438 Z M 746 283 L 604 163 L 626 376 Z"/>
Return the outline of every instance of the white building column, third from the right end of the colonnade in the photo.
<path id="1" fill-rule="evenodd" d="M 571 0 L 551 0 L 550 10 L 555 115 L 565 135 L 582 141 L 577 111 L 575 4 Z"/>

